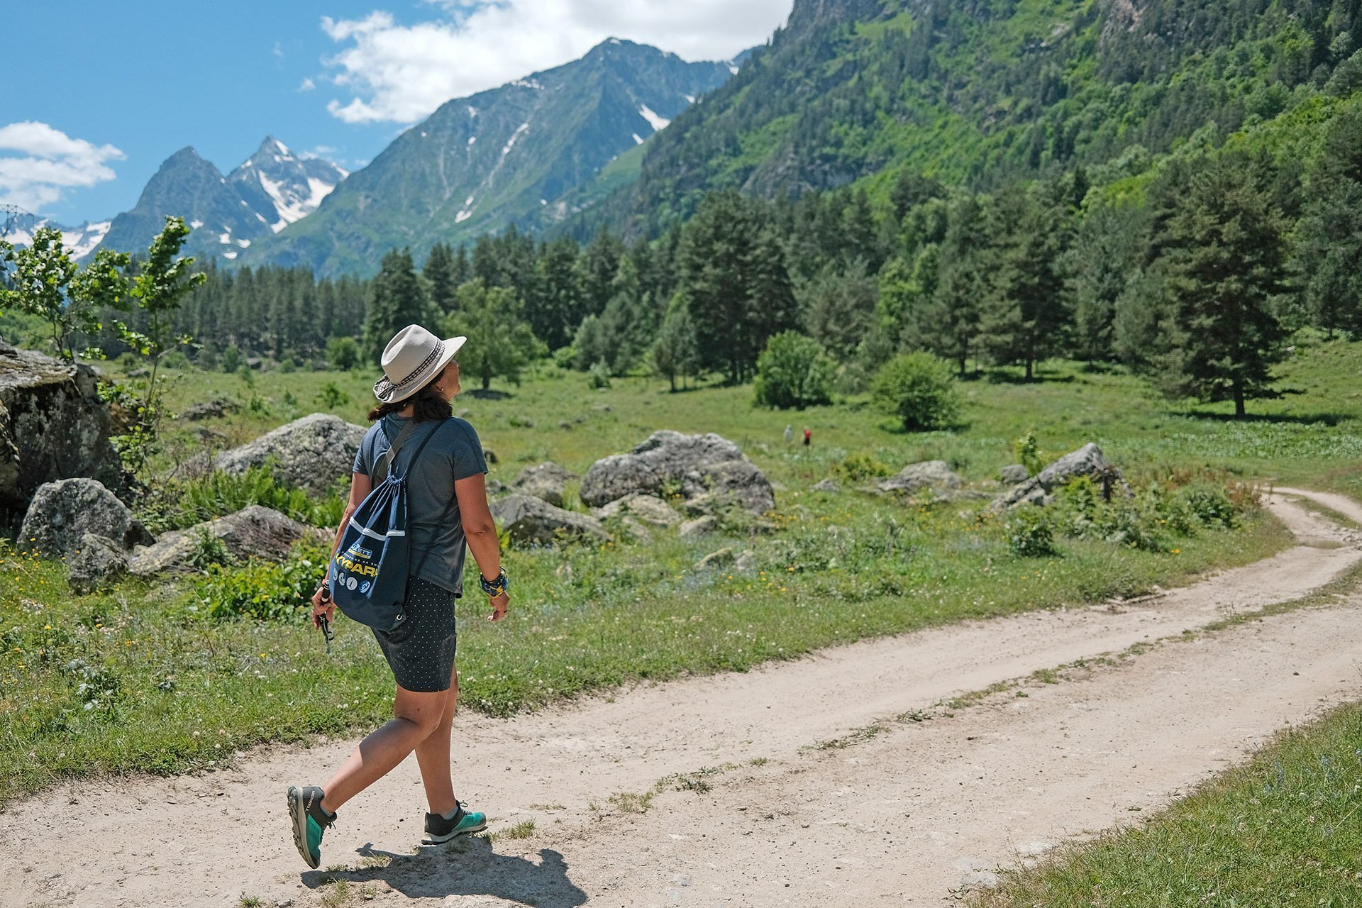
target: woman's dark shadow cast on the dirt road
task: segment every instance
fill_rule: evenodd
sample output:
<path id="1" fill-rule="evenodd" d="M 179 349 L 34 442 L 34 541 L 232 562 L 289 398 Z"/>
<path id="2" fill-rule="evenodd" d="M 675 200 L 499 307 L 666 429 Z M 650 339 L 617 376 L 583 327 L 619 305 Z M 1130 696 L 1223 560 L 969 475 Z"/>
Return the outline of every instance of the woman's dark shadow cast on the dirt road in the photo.
<path id="1" fill-rule="evenodd" d="M 414 855 L 398 855 L 372 845 L 357 849 L 373 867 L 358 870 L 313 870 L 302 874 L 309 889 L 339 885 L 364 888 L 383 882 L 409 898 L 445 896 L 494 896 L 537 908 L 576 908 L 587 894 L 568 879 L 568 864 L 550 848 L 539 851 L 539 863 L 528 858 L 498 855 L 485 837 L 456 839 L 447 845 L 421 848 Z M 385 866 L 379 862 L 387 858 Z"/>

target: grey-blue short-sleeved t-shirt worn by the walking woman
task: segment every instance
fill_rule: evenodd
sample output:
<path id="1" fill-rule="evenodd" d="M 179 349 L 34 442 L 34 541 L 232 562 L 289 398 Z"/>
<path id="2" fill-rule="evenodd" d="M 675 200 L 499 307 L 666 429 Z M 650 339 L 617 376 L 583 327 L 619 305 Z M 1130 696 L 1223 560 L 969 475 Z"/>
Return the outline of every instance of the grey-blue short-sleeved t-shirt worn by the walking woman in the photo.
<path id="1" fill-rule="evenodd" d="M 361 472 L 377 486 L 384 476 L 373 470 L 391 442 L 411 422 L 406 417 L 388 415 L 369 426 L 360 451 L 354 455 L 354 472 Z M 411 459 L 421 442 L 430 444 L 421 451 L 421 459 Z M 463 592 L 463 557 L 467 550 L 463 520 L 454 483 L 488 471 L 486 457 L 478 433 L 464 419 L 419 423 L 402 442 L 402 451 L 391 466 L 392 472 L 407 476 L 407 534 L 411 538 L 411 569 L 421 565 L 418 577 L 445 589 Z M 430 551 L 426 555 L 426 550 Z M 425 561 L 422 562 L 422 555 Z"/>

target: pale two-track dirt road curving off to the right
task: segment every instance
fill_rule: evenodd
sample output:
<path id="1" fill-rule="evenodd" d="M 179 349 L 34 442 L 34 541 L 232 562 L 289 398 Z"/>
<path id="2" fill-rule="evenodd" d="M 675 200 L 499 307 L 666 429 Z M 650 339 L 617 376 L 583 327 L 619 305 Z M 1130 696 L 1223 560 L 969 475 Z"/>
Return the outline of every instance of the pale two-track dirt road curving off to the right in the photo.
<path id="1" fill-rule="evenodd" d="M 230 772 L 64 787 L 0 814 L 0 904 L 937 904 L 1362 696 L 1362 598 L 1340 598 L 936 709 L 1297 599 L 1362 558 L 1362 534 L 1291 496 L 1362 523 L 1350 500 L 1279 490 L 1269 506 L 1302 545 L 1139 603 L 906 634 L 509 721 L 460 716 L 460 796 L 493 832 L 533 820 L 523 839 L 413 854 L 424 805 L 409 760 L 327 833 L 323 867 L 345 869 L 308 871 L 283 790 L 320 780 L 354 742 L 275 747 Z"/>

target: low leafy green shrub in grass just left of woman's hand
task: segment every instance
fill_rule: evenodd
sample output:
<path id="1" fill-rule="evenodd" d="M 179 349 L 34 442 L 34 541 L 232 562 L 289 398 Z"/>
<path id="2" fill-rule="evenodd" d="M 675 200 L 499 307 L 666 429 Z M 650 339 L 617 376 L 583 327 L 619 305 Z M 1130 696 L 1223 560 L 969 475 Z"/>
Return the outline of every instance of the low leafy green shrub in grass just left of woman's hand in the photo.
<path id="1" fill-rule="evenodd" d="M 196 592 L 210 618 L 255 618 L 257 621 L 306 619 L 312 594 L 326 572 L 330 550 L 324 545 L 300 543 L 279 562 L 251 560 L 238 568 L 212 565 Z"/>

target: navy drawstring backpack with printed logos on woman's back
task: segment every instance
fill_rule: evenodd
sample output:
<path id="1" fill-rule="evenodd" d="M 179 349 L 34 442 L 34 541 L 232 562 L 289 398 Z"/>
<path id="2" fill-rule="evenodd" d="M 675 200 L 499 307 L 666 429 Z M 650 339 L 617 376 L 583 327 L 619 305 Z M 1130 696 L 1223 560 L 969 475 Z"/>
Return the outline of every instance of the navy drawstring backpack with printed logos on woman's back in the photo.
<path id="1" fill-rule="evenodd" d="M 403 604 L 407 599 L 407 579 L 413 573 L 421 573 L 426 555 L 434 547 L 432 545 L 425 550 L 413 572 L 411 542 L 407 536 L 407 476 L 440 425 L 443 423 L 437 423 L 421 441 L 400 476 L 394 475 L 392 463 L 417 423 L 409 423 L 383 452 L 373 475 L 384 479 L 351 515 L 327 572 L 336 607 L 346 618 L 376 630 L 395 630 L 406 619 Z M 448 510 L 447 508 L 445 513 Z"/>

